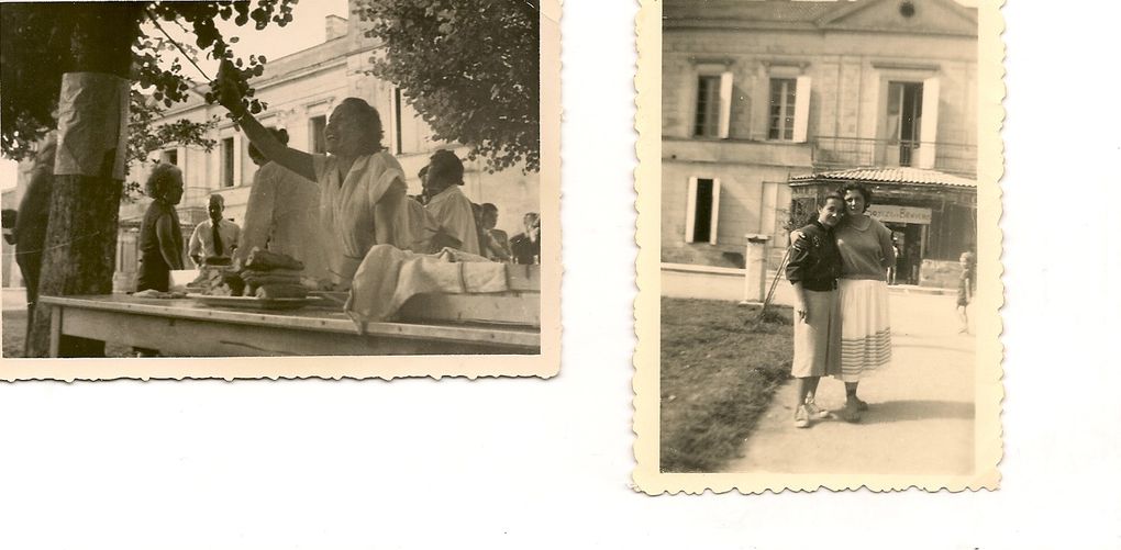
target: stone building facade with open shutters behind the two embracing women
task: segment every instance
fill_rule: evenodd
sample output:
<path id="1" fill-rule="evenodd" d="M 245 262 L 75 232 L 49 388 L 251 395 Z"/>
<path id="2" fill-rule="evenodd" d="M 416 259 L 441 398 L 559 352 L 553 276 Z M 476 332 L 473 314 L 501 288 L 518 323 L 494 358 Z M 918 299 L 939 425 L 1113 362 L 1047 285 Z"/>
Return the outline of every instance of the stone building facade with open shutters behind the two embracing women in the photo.
<path id="1" fill-rule="evenodd" d="M 918 216 L 884 221 L 938 250 L 924 259 L 970 244 L 930 235 L 975 213 L 974 8 L 667 0 L 663 21 L 664 262 L 742 267 L 747 235 L 766 235 L 777 267 L 788 226 L 855 168 L 878 170 L 861 181 L 892 197 L 881 213 Z M 952 217 L 928 212 L 946 202 Z"/>

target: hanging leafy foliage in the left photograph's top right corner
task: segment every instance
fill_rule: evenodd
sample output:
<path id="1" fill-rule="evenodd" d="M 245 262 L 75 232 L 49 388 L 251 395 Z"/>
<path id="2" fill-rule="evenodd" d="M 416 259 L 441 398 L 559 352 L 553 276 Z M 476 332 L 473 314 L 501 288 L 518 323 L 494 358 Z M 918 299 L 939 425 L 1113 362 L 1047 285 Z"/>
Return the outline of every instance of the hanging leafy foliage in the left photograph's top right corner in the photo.
<path id="1" fill-rule="evenodd" d="M 524 0 L 364 0 L 379 40 L 371 73 L 392 82 L 435 138 L 488 169 L 540 165 L 539 24 Z"/>

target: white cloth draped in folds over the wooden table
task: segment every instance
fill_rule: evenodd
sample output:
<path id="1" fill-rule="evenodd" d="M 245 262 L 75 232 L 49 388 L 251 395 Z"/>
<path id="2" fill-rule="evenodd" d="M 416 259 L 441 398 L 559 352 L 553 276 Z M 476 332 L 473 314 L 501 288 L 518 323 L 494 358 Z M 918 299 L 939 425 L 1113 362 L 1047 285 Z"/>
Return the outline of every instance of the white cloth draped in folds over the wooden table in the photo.
<path id="1" fill-rule="evenodd" d="M 376 245 L 354 273 L 344 309 L 361 330 L 364 323 L 392 318 L 418 293 L 503 292 L 509 288 L 506 264 L 481 255 L 450 248 L 436 254 L 417 254 Z"/>

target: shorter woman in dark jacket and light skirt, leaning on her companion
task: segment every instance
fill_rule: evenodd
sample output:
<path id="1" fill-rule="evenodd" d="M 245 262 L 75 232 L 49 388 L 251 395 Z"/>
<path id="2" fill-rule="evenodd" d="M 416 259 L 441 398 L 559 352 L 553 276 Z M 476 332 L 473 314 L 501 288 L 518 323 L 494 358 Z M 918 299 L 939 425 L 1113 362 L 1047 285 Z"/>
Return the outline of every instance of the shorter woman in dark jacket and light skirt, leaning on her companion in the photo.
<path id="1" fill-rule="evenodd" d="M 841 195 L 825 197 L 817 217 L 799 230 L 802 239 L 790 246 L 786 278 L 794 286 L 794 361 L 790 374 L 798 379 L 794 426 L 808 428 L 810 419 L 827 416 L 814 404 L 822 376 L 841 374 L 841 308 L 837 278 L 841 253 L 833 227 L 844 216 Z"/>

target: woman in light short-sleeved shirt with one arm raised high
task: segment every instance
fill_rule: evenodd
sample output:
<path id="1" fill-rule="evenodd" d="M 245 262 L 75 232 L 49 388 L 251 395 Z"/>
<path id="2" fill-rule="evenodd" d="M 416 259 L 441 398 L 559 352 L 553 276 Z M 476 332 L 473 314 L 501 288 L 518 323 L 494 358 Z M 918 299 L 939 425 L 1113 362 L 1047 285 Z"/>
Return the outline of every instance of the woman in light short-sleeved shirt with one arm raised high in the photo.
<path id="1" fill-rule="evenodd" d="M 319 184 L 319 217 L 332 235 L 326 252 L 335 285 L 350 286 L 374 244 L 429 251 L 435 225 L 407 196 L 400 164 L 381 146 L 381 116 L 374 108 L 358 97 L 343 100 L 327 119 L 327 155 L 311 155 L 281 143 L 247 111 L 235 72 L 222 63 L 219 101 L 266 158 Z"/>

